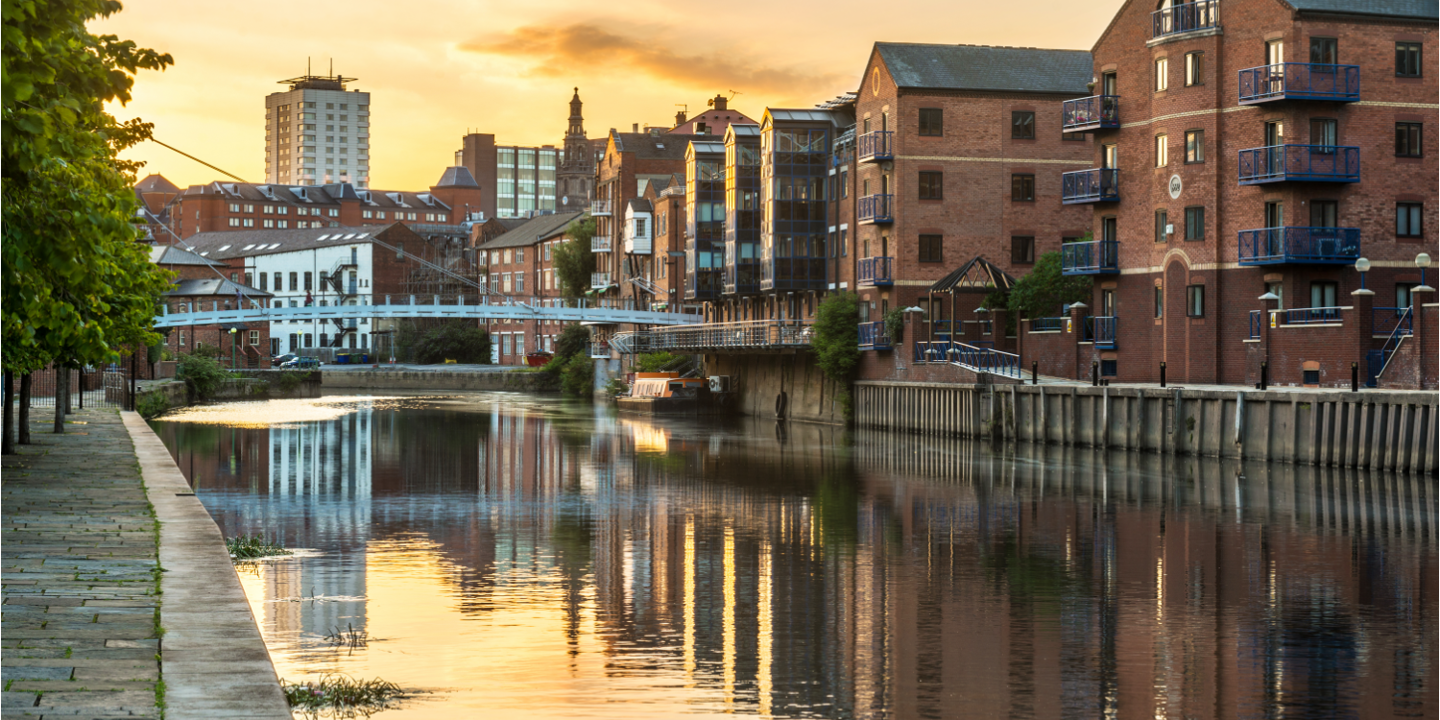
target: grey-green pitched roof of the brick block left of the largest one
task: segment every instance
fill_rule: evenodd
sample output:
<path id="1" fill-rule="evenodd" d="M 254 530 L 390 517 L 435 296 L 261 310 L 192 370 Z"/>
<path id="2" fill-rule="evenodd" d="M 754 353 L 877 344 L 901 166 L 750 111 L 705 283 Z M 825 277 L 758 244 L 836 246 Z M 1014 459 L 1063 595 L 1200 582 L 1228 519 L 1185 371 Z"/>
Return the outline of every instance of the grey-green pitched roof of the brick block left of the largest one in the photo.
<path id="1" fill-rule="evenodd" d="M 1302 0 L 1344 1 L 1344 0 Z M 1401 0 L 1417 1 L 1417 0 Z M 1087 50 L 876 43 L 899 88 L 1086 94 Z"/>

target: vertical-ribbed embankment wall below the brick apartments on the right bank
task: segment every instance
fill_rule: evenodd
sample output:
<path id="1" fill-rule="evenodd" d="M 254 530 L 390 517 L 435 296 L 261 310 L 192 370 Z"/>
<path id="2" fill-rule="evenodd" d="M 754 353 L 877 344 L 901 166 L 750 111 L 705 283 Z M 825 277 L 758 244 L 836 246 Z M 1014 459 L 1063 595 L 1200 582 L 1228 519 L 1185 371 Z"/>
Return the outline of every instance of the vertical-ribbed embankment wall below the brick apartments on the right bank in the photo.
<path id="1" fill-rule="evenodd" d="M 863 428 L 1427 474 L 1437 409 L 1427 392 L 855 386 Z"/>

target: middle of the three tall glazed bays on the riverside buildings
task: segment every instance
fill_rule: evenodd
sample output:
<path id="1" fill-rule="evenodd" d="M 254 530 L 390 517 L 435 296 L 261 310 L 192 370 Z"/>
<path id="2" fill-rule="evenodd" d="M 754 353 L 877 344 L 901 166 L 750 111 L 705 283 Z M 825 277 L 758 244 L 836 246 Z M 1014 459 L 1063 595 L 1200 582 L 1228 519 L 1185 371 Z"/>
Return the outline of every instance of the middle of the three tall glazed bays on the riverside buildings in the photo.
<path id="1" fill-rule="evenodd" d="M 730 125 L 724 144 L 724 294 L 760 291 L 760 134 Z"/>

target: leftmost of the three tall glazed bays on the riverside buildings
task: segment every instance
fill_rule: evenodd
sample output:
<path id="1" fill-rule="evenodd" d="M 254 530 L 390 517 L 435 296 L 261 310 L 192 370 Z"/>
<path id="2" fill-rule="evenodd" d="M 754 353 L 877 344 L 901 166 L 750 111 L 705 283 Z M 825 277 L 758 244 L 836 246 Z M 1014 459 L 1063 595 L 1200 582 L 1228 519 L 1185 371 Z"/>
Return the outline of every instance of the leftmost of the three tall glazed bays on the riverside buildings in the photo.
<path id="1" fill-rule="evenodd" d="M 685 150 L 685 300 L 716 300 L 726 242 L 724 145 Z"/>

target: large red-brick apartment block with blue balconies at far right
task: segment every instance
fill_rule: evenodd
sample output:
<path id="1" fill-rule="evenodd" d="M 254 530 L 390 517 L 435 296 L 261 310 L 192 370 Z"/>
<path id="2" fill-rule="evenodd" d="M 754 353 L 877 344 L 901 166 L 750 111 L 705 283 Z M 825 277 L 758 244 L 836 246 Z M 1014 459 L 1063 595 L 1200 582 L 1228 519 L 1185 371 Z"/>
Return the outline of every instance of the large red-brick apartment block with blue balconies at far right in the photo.
<path id="1" fill-rule="evenodd" d="M 1395 328 L 1434 315 L 1411 291 L 1437 238 L 1436 19 L 1400 0 L 1126 3 L 1089 96 L 1037 114 L 1094 138 L 1076 143 L 1087 170 L 1037 173 L 1092 207 L 1094 240 L 1064 266 L 1096 281 L 1074 363 L 1043 372 L 1253 383 L 1266 361 L 1272 383 L 1348 386 L 1397 341 L 1418 361 Z"/>

